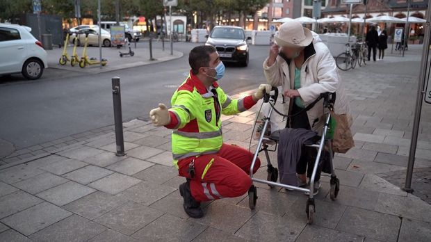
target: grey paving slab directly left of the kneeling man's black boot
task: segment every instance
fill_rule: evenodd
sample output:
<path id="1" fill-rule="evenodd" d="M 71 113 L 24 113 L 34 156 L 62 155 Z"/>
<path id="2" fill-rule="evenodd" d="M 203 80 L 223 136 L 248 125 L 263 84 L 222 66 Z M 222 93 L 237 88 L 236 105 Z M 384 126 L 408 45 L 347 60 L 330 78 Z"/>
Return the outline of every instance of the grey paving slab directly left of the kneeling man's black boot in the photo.
<path id="1" fill-rule="evenodd" d="M 148 181 L 141 181 L 139 184 L 117 194 L 117 196 L 133 202 L 149 205 L 173 191 L 175 191 L 175 188 L 150 183 Z"/>

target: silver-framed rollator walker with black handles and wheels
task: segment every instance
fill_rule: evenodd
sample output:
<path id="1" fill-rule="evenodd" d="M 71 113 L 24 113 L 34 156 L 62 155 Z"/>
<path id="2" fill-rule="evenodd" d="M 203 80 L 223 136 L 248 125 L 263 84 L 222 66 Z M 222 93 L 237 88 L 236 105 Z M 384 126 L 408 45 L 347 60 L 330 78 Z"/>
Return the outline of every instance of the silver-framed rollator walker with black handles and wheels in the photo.
<path id="1" fill-rule="evenodd" d="M 315 144 L 305 145 L 307 147 L 315 147 L 316 149 L 318 149 L 318 152 L 316 155 L 316 161 L 314 162 L 313 172 L 311 173 L 311 177 L 309 179 L 310 186 L 309 186 L 309 188 L 302 188 L 299 186 L 290 186 L 290 185 L 278 183 L 277 182 L 278 169 L 275 168 L 270 162 L 270 157 L 269 157 L 268 152 L 275 152 L 277 150 L 277 143 L 279 140 L 278 136 L 275 136 L 275 135 L 268 136 L 268 134 L 267 134 L 268 123 L 270 122 L 271 114 L 273 113 L 273 111 L 279 113 L 279 111 L 277 111 L 277 109 L 275 109 L 275 107 L 274 107 L 274 104 L 275 104 L 277 97 L 278 97 L 278 88 L 273 87 L 273 91 L 274 91 L 274 95 L 266 94 L 265 97 L 263 98 L 264 103 L 270 104 L 270 109 L 268 111 L 268 115 L 265 115 L 265 118 L 263 118 L 263 128 L 261 130 L 259 141 L 257 143 L 257 149 L 256 149 L 256 152 L 254 152 L 252 165 L 250 167 L 250 178 L 252 179 L 252 183 L 253 182 L 259 182 L 259 183 L 263 183 L 263 184 L 268 184 L 268 186 L 270 186 L 270 188 L 274 188 L 275 186 L 281 186 L 282 188 L 287 188 L 289 190 L 308 192 L 309 198 L 307 199 L 305 211 L 307 213 L 307 223 L 311 224 L 311 223 L 313 223 L 313 216 L 314 216 L 314 212 L 316 211 L 315 210 L 316 205 L 314 202 L 314 194 L 313 194 L 314 193 L 314 179 L 316 177 L 318 166 L 320 166 L 320 162 L 321 162 L 320 158 L 323 156 L 322 154 L 324 152 L 325 147 L 327 149 L 326 152 L 329 152 L 328 156 L 329 156 L 331 166 L 332 166 L 332 158 L 333 158 L 334 153 L 332 152 L 332 140 L 327 138 L 327 136 L 328 136 L 327 133 L 330 129 L 330 119 L 331 119 L 331 115 L 330 115 L 329 110 L 332 110 L 332 108 L 334 106 L 335 94 L 329 93 L 329 92 L 323 93 L 320 95 L 320 97 L 316 101 L 313 102 L 313 104 L 310 104 L 310 105 L 314 105 L 318 101 L 320 101 L 320 99 L 323 99 L 323 108 L 325 108 L 325 110 L 327 110 L 327 116 L 325 118 L 325 126 L 323 128 L 323 134 L 320 137 L 320 140 L 318 140 L 318 142 Z M 309 108 L 311 108 L 311 106 Z M 282 113 L 279 113 L 279 114 L 283 115 Z M 283 115 L 283 116 L 288 117 L 287 115 Z M 275 134 L 275 132 L 273 134 Z M 268 150 L 268 147 L 269 147 L 268 143 L 269 144 L 275 143 L 274 150 Z M 254 168 L 254 165 L 256 163 L 257 156 L 260 152 L 265 152 L 266 160 L 268 161 L 268 165 L 267 165 L 268 178 L 267 178 L 267 180 L 257 179 L 257 178 L 253 177 L 253 168 Z M 338 178 L 336 178 L 336 175 L 334 172 L 334 166 L 332 166 L 330 186 L 331 186 L 330 197 L 331 197 L 331 200 L 334 201 L 336 199 L 338 193 L 339 193 L 339 186 L 340 186 L 340 181 Z M 250 189 L 248 191 L 248 197 L 249 197 L 250 209 L 254 209 L 256 206 L 256 202 L 257 202 L 257 188 L 256 188 L 256 186 L 254 186 L 254 184 L 252 184 L 252 186 L 250 187 Z"/>

